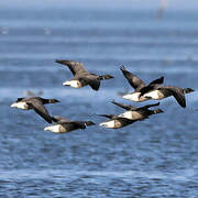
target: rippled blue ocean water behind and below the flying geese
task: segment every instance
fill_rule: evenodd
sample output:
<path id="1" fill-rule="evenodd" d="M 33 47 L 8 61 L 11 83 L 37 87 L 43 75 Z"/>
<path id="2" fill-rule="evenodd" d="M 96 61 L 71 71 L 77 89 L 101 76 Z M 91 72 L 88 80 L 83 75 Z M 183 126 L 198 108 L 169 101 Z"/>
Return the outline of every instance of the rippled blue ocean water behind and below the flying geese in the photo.
<path id="1" fill-rule="evenodd" d="M 100 128 L 99 113 L 121 113 L 111 100 L 142 106 L 118 94 L 132 91 L 119 67 L 148 82 L 198 89 L 197 12 L 108 9 L 1 9 L 0 197 L 197 197 L 198 95 L 187 108 L 174 98 L 164 113 L 119 130 Z M 63 87 L 72 78 L 56 58 L 82 62 L 110 74 L 99 91 Z M 54 134 L 33 111 L 10 108 L 25 92 L 56 98 L 51 114 L 97 123 Z M 147 101 L 144 103 L 153 103 Z"/>

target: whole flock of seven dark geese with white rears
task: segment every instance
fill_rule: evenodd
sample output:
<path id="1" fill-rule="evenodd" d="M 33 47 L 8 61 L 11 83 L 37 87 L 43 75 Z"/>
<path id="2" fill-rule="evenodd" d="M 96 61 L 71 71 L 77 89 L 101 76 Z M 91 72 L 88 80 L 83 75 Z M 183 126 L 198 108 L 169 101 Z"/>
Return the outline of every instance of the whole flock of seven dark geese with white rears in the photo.
<path id="1" fill-rule="evenodd" d="M 65 65 L 69 68 L 73 74 L 70 80 L 63 82 L 63 86 L 70 86 L 73 88 L 81 88 L 90 86 L 94 90 L 99 90 L 100 81 L 105 79 L 111 79 L 111 75 L 96 75 L 84 67 L 80 62 L 56 59 L 58 64 Z M 146 100 L 162 100 L 164 98 L 173 96 L 178 105 L 186 108 L 185 94 L 194 91 L 191 88 L 179 88 L 175 86 L 164 86 L 164 76 L 151 81 L 146 85 L 142 79 L 135 76 L 133 73 L 125 69 L 124 66 L 120 67 L 123 76 L 127 78 L 129 84 L 133 87 L 134 91 L 131 94 L 123 95 L 123 98 L 131 101 L 142 102 Z M 18 98 L 15 102 L 11 105 L 12 108 L 23 110 L 34 110 L 40 114 L 46 122 L 53 123 L 53 125 L 46 127 L 45 131 L 52 131 L 54 133 L 65 133 L 78 129 L 86 129 L 87 127 L 95 125 L 96 123 L 88 121 L 70 121 L 64 117 L 51 116 L 44 105 L 59 102 L 56 99 L 44 99 L 41 97 L 24 97 Z M 125 111 L 121 114 L 98 114 L 100 117 L 108 118 L 107 121 L 101 122 L 99 125 L 110 129 L 120 129 L 125 125 L 132 124 L 136 121 L 148 119 L 152 114 L 163 113 L 162 109 L 150 109 L 158 107 L 160 102 L 146 105 L 143 107 L 134 107 L 124 103 L 111 101 L 113 105 L 124 109 Z"/>

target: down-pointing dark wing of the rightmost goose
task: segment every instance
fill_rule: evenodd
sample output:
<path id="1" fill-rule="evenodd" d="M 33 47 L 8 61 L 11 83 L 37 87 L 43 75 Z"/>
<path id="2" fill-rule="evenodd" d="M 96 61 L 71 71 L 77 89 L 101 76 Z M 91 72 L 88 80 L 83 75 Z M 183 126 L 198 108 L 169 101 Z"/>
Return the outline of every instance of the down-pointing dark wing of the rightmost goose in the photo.
<path id="1" fill-rule="evenodd" d="M 182 88 L 166 86 L 161 87 L 158 90 L 163 91 L 165 95 L 172 95 L 183 108 L 186 108 L 185 94 Z"/>

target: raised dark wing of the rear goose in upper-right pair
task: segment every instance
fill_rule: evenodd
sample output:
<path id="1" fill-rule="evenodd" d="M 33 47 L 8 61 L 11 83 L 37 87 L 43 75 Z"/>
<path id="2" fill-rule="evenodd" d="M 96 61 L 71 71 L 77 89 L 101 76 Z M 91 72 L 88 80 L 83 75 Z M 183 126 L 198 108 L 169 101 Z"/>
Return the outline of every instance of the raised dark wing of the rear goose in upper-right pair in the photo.
<path id="1" fill-rule="evenodd" d="M 128 72 L 124 66 L 121 66 L 120 69 L 134 89 L 140 89 L 145 86 L 144 81 L 138 78 L 134 74 Z"/>

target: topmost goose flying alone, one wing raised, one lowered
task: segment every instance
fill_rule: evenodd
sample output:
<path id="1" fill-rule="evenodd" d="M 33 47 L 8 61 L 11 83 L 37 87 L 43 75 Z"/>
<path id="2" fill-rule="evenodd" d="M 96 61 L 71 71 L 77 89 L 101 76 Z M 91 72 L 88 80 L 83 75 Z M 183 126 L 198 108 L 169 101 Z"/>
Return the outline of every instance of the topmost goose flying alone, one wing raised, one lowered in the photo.
<path id="1" fill-rule="evenodd" d="M 56 59 L 55 62 L 62 65 L 66 65 L 73 73 L 74 78 L 65 81 L 63 84 L 64 86 L 81 88 L 89 85 L 94 90 L 98 90 L 100 87 L 100 80 L 113 78 L 113 76 L 110 75 L 98 76 L 96 74 L 89 73 L 85 69 L 84 65 L 80 62 L 64 59 Z"/>

